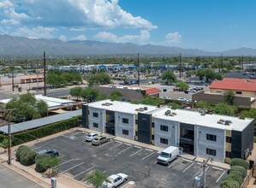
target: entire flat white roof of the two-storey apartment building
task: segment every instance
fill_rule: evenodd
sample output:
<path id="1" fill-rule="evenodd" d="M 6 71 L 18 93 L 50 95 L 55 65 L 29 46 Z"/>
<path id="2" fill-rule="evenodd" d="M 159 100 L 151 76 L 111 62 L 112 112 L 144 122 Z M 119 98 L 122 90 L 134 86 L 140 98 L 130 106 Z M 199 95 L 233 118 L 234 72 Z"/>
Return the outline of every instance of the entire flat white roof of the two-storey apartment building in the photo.
<path id="1" fill-rule="evenodd" d="M 112 103 L 112 105 L 103 105 L 105 103 Z M 246 118 L 245 120 L 241 120 L 238 117 L 228 116 L 228 115 L 201 115 L 199 112 L 182 110 L 182 109 L 170 109 L 167 106 L 164 107 L 156 107 L 145 104 L 132 104 L 127 102 L 118 102 L 118 101 L 110 101 L 110 99 L 98 101 L 94 103 L 88 103 L 89 107 L 96 109 L 108 109 L 111 111 L 123 112 L 128 114 L 138 114 L 138 109 L 147 107 L 146 110 L 141 111 L 144 114 L 152 114 L 152 117 L 163 119 L 163 120 L 174 120 L 182 123 L 188 123 L 191 125 L 198 126 L 208 126 L 211 128 L 217 129 L 227 129 L 227 130 L 235 130 L 242 131 L 245 127 L 248 126 L 249 123 L 253 121 L 253 119 Z M 167 110 L 170 110 L 171 113 L 176 113 L 173 116 L 164 115 Z M 230 120 L 232 123 L 229 126 L 217 123 L 219 120 Z"/>

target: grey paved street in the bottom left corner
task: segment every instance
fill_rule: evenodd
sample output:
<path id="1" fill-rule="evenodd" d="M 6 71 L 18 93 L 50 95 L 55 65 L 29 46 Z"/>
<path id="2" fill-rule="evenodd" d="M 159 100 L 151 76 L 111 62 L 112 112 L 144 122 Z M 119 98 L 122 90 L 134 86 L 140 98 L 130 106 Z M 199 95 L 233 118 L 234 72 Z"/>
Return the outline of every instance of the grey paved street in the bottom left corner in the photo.
<path id="1" fill-rule="evenodd" d="M 42 188 L 42 186 L 35 184 L 19 173 L 4 167 L 3 164 L 0 164 L 0 182 L 0 187 L 3 188 Z"/>

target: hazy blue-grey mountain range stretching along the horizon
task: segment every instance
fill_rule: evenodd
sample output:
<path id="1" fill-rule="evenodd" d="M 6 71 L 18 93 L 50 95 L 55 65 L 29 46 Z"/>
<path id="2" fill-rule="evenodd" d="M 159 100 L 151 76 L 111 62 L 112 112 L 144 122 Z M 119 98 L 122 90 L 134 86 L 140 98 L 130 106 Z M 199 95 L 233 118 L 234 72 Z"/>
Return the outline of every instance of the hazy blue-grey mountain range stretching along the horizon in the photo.
<path id="1" fill-rule="evenodd" d="M 31 39 L 0 35 L 0 55 L 42 55 L 45 51 L 48 55 L 166 55 L 176 56 L 256 56 L 256 50 L 252 48 L 240 48 L 219 52 L 209 52 L 197 49 L 183 49 L 161 45 L 138 45 L 107 43 L 92 40 L 63 42 L 59 39 Z"/>

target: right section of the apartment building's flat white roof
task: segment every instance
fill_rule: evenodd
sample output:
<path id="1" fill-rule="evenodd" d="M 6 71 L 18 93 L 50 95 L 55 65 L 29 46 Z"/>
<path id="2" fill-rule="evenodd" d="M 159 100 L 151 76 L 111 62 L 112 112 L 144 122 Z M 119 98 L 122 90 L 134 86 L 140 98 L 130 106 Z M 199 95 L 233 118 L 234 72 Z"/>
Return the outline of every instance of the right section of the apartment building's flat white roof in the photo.
<path id="1" fill-rule="evenodd" d="M 167 110 L 170 110 L 171 113 L 176 113 L 173 116 L 164 115 Z M 229 115 L 201 115 L 199 112 L 184 110 L 184 109 L 169 109 L 163 108 L 159 109 L 157 112 L 152 115 L 155 118 L 164 119 L 164 120 L 175 120 L 182 123 L 188 123 L 192 125 L 198 126 L 208 126 L 211 128 L 217 129 L 227 129 L 227 130 L 235 130 L 242 131 L 244 128 L 248 126 L 249 123 L 253 121 L 253 119 L 246 118 L 245 120 L 241 120 L 238 117 L 229 116 Z M 219 120 L 230 120 L 232 123 L 229 126 L 217 123 Z"/>

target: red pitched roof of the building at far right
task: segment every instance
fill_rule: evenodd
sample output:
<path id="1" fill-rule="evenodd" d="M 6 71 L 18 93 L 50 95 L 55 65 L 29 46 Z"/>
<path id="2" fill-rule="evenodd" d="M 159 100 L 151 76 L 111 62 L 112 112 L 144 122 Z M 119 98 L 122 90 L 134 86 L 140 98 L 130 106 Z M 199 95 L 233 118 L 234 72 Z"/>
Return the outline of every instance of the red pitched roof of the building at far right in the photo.
<path id="1" fill-rule="evenodd" d="M 256 92 L 256 79 L 214 80 L 210 85 L 210 89 Z"/>

